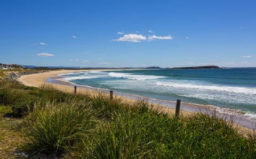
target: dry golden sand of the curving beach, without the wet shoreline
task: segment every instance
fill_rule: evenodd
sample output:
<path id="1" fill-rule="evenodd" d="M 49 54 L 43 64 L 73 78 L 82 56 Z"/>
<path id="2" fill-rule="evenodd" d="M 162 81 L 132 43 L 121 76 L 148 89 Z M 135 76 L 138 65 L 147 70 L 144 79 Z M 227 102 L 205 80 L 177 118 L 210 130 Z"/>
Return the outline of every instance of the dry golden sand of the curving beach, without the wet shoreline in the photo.
<path id="1" fill-rule="evenodd" d="M 43 85 L 50 85 L 53 86 L 55 89 L 65 91 L 67 93 L 74 93 L 74 85 L 70 85 L 70 83 L 65 81 L 58 81 L 58 82 L 47 82 L 47 80 L 50 79 L 57 79 L 59 78 L 59 74 L 65 74 L 65 73 L 71 73 L 71 72 L 84 72 L 84 71 L 102 71 L 102 70 L 58 70 L 58 71 L 50 71 L 50 72 L 44 72 L 44 73 L 37 73 L 37 74 L 27 74 L 23 75 L 19 78 L 19 81 L 21 81 L 26 86 L 33 86 L 33 87 L 41 87 Z M 107 71 L 107 70 L 104 70 Z M 77 87 L 77 93 L 81 94 L 94 94 L 96 90 L 89 89 L 89 87 Z M 137 101 L 137 99 L 133 98 L 127 98 L 123 96 L 121 97 L 124 102 L 134 103 Z M 150 102 L 150 101 L 149 101 Z M 184 105 L 184 104 L 183 104 Z M 193 104 L 185 104 L 188 107 L 195 107 Z M 168 114 L 175 114 L 175 108 L 170 108 L 167 106 L 161 105 L 161 103 L 156 104 L 154 103 L 154 107 L 158 110 L 161 110 L 164 113 Z M 198 106 L 197 106 L 198 107 Z M 194 111 L 180 111 L 180 115 L 184 116 L 185 118 L 195 114 Z M 247 133 L 253 134 L 253 129 L 246 128 L 242 125 L 234 123 L 234 127 L 238 128 L 239 132 L 241 132 L 245 137 L 247 137 Z"/>

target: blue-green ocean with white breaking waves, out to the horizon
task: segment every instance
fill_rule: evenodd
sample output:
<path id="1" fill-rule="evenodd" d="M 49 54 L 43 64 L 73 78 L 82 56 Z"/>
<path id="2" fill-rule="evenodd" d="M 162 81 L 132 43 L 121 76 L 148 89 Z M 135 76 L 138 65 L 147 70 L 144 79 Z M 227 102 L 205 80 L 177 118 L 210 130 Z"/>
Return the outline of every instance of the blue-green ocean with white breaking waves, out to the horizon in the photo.
<path id="1" fill-rule="evenodd" d="M 60 74 L 76 85 L 216 106 L 256 119 L 256 68 L 88 71 Z"/>

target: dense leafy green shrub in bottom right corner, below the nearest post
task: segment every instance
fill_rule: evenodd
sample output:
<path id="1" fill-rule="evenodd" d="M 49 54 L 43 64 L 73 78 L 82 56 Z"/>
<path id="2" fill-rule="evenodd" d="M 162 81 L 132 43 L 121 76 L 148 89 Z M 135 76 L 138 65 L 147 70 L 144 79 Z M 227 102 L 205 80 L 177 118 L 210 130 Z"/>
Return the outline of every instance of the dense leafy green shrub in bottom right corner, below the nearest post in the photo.
<path id="1" fill-rule="evenodd" d="M 232 123 L 210 116 L 197 114 L 187 121 L 184 145 L 189 155 L 197 158 L 255 158 L 255 145 L 239 135 Z M 254 152 L 251 148 L 254 147 Z"/>

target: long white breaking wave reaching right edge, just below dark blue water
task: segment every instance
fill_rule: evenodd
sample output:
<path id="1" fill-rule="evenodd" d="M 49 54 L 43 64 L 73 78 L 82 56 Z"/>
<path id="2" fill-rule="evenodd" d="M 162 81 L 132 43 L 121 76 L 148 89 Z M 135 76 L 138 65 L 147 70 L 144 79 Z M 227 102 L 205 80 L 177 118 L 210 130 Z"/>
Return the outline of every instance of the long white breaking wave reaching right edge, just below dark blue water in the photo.
<path id="1" fill-rule="evenodd" d="M 167 86 L 174 88 L 189 88 L 189 89 L 203 89 L 203 90 L 215 90 L 215 91 L 227 91 L 230 93 L 243 93 L 256 95 L 256 88 L 247 87 L 231 87 L 231 86 L 218 86 L 218 85 L 196 85 L 194 83 L 175 83 L 175 82 L 156 82 L 158 86 Z"/>

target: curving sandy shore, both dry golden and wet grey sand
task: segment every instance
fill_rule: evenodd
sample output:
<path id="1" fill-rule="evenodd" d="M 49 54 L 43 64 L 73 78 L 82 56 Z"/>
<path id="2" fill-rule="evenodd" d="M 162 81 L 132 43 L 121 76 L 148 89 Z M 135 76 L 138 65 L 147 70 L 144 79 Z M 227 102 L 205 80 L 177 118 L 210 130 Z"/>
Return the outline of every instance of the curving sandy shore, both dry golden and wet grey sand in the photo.
<path id="1" fill-rule="evenodd" d="M 110 69 L 111 70 L 111 69 Z M 102 70 L 58 70 L 58 71 L 50 71 L 38 74 L 28 74 L 23 75 L 19 78 L 26 86 L 34 86 L 40 87 L 42 85 L 51 85 L 54 88 L 65 91 L 68 93 L 74 92 L 74 84 L 66 81 L 58 80 L 59 78 L 63 78 L 59 76 L 59 74 L 66 73 L 75 73 L 75 72 L 84 72 L 84 71 L 102 71 Z M 107 70 L 104 70 L 107 71 Z M 109 71 L 109 70 L 108 70 Z M 83 94 L 91 94 L 95 91 L 102 91 L 104 89 L 100 88 L 92 88 L 89 86 L 77 86 L 77 92 Z M 135 102 L 137 99 L 146 98 L 149 103 L 152 103 L 156 108 L 160 108 L 161 111 L 168 114 L 175 114 L 175 102 L 174 101 L 164 101 L 153 98 L 141 97 L 132 94 L 118 93 L 115 92 L 115 95 L 120 96 L 125 102 Z M 182 102 L 182 101 L 181 101 Z M 239 130 L 243 133 L 253 133 L 253 129 L 256 127 L 256 122 L 246 119 L 242 114 L 234 114 L 234 112 L 228 110 L 218 110 L 219 107 L 216 106 L 207 106 L 207 105 L 199 105 L 193 103 L 181 103 L 181 112 L 183 116 L 193 115 L 195 113 L 209 113 L 217 115 L 219 118 L 226 119 L 228 121 L 234 122 L 234 127 L 238 127 Z"/>

